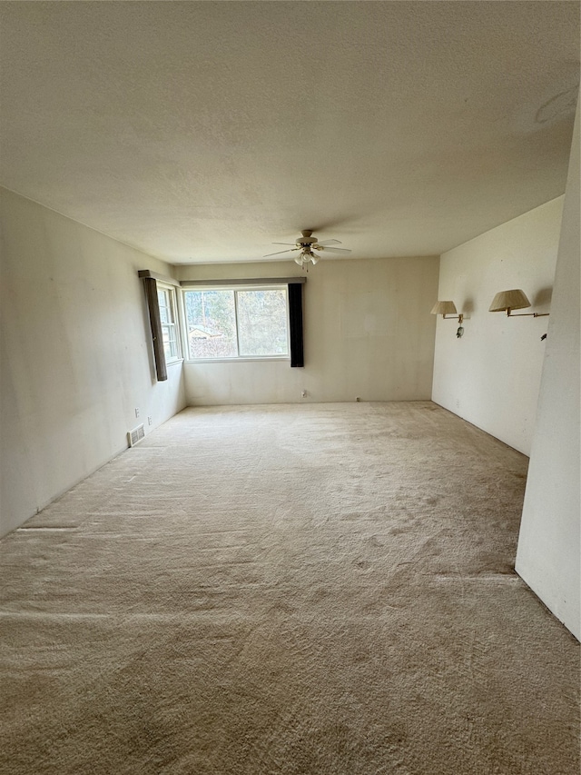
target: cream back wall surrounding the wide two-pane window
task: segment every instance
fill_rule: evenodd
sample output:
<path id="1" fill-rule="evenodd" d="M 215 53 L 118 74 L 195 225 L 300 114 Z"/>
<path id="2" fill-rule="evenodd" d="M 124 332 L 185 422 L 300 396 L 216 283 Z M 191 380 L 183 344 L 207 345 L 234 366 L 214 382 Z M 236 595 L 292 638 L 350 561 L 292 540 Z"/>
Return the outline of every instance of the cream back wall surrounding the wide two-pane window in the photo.
<path id="1" fill-rule="evenodd" d="M 289 277 L 292 261 L 176 270 L 180 279 Z M 186 363 L 189 404 L 413 401 L 431 393 L 438 258 L 322 260 L 304 288 L 304 368 Z M 307 391 L 302 399 L 300 393 Z"/>

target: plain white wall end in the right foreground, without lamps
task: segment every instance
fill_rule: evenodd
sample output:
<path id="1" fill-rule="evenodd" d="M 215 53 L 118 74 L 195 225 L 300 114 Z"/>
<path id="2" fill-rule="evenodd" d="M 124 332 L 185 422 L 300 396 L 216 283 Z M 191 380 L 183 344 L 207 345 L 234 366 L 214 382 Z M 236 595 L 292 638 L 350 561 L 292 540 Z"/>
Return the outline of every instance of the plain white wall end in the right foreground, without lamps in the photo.
<path id="1" fill-rule="evenodd" d="M 579 573 L 579 107 L 569 164 L 547 353 L 517 551 L 517 572 L 581 639 Z"/>

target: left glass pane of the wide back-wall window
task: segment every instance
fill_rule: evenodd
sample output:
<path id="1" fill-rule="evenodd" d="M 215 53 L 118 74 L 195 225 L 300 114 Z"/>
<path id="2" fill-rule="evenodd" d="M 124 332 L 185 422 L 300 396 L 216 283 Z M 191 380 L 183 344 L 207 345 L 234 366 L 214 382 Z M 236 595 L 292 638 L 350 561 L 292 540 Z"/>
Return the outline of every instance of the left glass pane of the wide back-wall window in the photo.
<path id="1" fill-rule="evenodd" d="M 184 298 L 190 357 L 236 357 L 234 292 L 186 291 Z"/>

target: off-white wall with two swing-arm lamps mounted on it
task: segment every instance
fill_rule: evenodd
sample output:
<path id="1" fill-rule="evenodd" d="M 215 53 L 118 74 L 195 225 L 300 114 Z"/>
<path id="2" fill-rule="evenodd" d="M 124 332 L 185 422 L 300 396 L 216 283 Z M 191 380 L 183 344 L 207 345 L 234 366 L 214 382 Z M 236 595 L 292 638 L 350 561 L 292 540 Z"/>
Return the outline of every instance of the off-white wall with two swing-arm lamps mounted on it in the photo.
<path id="1" fill-rule="evenodd" d="M 489 313 L 497 291 L 522 288 L 546 313 L 555 276 L 563 197 L 481 234 L 440 257 L 438 299 L 465 313 L 438 316 L 432 400 L 530 454 L 550 317 Z"/>

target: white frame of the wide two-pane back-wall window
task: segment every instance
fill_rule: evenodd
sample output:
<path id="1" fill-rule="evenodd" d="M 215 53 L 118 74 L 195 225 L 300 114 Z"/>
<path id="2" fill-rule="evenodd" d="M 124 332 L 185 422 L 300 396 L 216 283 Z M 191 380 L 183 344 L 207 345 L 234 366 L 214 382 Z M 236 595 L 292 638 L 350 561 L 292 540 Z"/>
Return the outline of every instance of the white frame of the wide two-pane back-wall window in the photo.
<path id="1" fill-rule="evenodd" d="M 217 358 L 192 358 L 190 354 L 190 338 L 188 332 L 188 320 L 186 312 L 186 293 L 197 293 L 200 291 L 231 291 L 234 299 L 234 324 L 236 327 L 236 349 L 237 355 L 222 355 Z M 241 355 L 240 354 L 240 333 L 239 333 L 239 318 L 238 318 L 238 292 L 244 291 L 282 291 L 285 299 L 285 313 L 286 313 L 286 339 L 287 339 L 287 352 L 284 355 Z M 181 288 L 181 323 L 183 333 L 183 359 L 186 363 L 250 363 L 252 361 L 290 361 L 291 360 L 291 320 L 289 312 L 289 288 L 287 283 L 272 282 L 272 283 L 196 283 L 195 285 L 185 285 Z"/>

